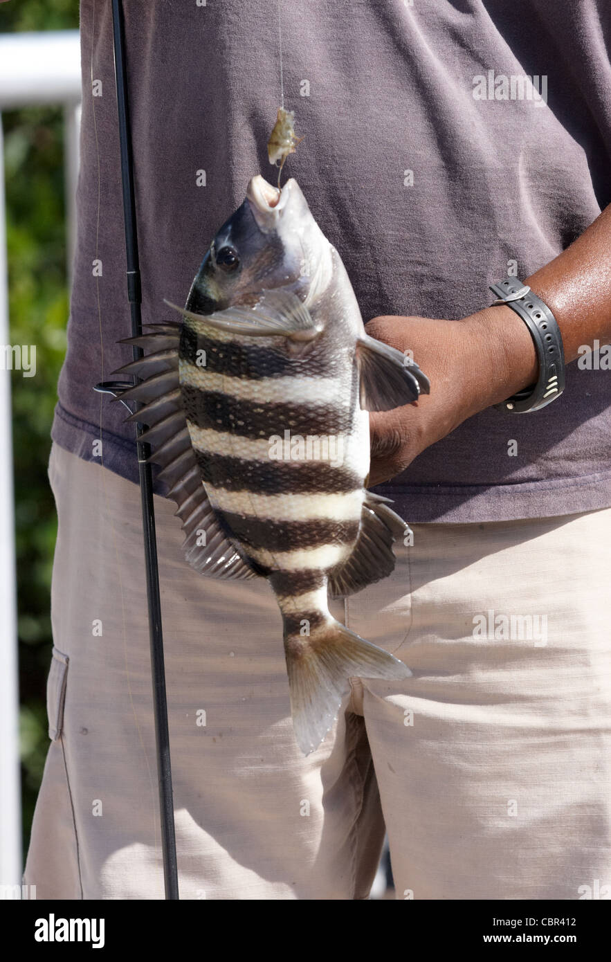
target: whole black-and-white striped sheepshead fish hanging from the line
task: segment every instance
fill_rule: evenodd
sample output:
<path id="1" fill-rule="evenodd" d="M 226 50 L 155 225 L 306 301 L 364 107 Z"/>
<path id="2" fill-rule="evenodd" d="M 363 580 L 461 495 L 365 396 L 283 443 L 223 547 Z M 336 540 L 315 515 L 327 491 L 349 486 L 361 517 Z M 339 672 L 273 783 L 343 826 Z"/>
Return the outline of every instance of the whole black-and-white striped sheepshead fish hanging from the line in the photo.
<path id="1" fill-rule="evenodd" d="M 174 307 L 174 305 L 171 305 Z M 123 343 L 149 351 L 116 373 L 191 566 L 266 577 L 284 621 L 293 726 L 318 747 L 351 676 L 404 678 L 398 659 L 349 631 L 328 597 L 395 567 L 407 526 L 367 491 L 369 411 L 428 392 L 403 354 L 365 333 L 340 256 L 296 181 L 253 177 L 199 267 L 181 322 Z"/>

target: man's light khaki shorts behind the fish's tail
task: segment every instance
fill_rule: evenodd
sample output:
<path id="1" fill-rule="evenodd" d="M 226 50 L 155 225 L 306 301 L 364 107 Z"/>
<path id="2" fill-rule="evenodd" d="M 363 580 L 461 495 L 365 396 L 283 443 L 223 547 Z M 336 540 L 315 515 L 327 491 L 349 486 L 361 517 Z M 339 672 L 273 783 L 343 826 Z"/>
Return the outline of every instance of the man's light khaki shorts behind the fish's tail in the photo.
<path id="1" fill-rule="evenodd" d="M 24 880 L 163 899 L 140 492 L 56 444 L 49 474 L 52 741 Z M 182 899 L 367 899 L 385 825 L 398 899 L 600 898 L 611 509 L 415 525 L 395 573 L 333 607 L 413 677 L 353 679 L 308 758 L 267 582 L 191 570 L 173 511 L 156 498 Z"/>

